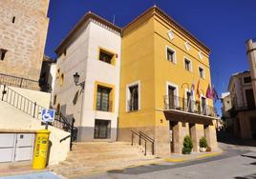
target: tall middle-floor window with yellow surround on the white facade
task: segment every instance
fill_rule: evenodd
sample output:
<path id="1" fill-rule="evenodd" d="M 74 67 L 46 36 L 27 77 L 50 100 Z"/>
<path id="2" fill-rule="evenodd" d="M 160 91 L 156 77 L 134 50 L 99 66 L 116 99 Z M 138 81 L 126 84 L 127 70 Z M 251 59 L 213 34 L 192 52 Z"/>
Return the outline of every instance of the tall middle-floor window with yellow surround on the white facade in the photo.
<path id="1" fill-rule="evenodd" d="M 110 111 L 110 92 L 111 89 L 97 86 L 96 92 L 96 109 L 102 111 Z"/>

